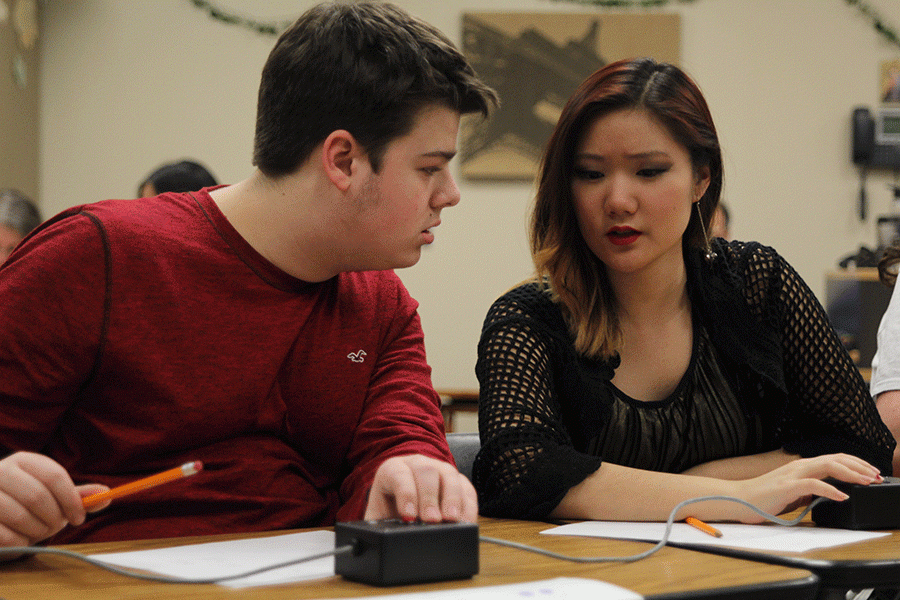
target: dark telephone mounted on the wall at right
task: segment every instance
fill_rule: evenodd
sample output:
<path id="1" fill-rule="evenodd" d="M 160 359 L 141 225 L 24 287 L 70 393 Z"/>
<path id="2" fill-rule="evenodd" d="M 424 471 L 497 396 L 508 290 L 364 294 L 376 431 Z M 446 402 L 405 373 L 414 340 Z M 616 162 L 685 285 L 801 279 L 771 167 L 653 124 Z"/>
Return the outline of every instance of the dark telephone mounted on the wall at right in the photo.
<path id="1" fill-rule="evenodd" d="M 870 169 L 900 170 L 900 108 L 853 109 L 853 162 Z"/>

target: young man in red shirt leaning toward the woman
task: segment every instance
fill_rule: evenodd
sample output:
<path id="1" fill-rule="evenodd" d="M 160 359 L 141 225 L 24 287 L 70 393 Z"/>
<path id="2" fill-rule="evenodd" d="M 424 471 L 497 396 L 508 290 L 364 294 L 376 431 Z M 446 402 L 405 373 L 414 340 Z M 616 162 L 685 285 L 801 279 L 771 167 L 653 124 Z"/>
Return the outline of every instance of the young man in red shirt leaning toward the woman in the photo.
<path id="1" fill-rule="evenodd" d="M 263 70 L 249 178 L 32 234 L 0 270 L 0 544 L 473 520 L 390 269 L 459 201 L 460 115 L 495 103 L 433 27 L 323 4 Z"/>

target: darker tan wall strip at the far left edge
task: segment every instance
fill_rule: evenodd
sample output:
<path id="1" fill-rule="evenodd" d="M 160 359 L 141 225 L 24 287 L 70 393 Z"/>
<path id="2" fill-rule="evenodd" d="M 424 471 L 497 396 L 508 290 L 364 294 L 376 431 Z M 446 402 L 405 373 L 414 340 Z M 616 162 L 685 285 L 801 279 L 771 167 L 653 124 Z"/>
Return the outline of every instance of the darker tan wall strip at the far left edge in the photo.
<path id="1" fill-rule="evenodd" d="M 24 65 L 13 75 L 17 63 Z M 0 22 L 0 188 L 38 195 L 38 47 L 24 45 L 12 17 Z"/>

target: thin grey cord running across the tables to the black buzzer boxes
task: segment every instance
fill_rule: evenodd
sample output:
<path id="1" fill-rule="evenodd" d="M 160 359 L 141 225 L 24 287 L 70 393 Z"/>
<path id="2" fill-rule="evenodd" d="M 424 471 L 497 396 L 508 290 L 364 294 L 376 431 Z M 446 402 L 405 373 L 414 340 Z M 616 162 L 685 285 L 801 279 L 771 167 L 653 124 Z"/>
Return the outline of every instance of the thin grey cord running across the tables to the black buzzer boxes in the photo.
<path id="1" fill-rule="evenodd" d="M 567 556 L 565 554 L 558 554 L 556 552 L 551 552 L 549 550 L 544 550 L 542 548 L 536 548 L 534 546 L 528 546 L 526 544 L 520 544 L 518 542 L 510 542 L 508 540 L 501 540 L 498 538 L 478 536 L 478 539 L 481 542 L 485 542 L 485 543 L 489 543 L 489 544 L 496 544 L 498 546 L 507 546 L 509 548 L 515 548 L 517 550 L 523 550 L 525 552 L 533 552 L 535 554 L 541 554 L 544 556 L 548 556 L 550 558 L 556 558 L 559 560 L 566 560 L 566 561 L 570 561 L 570 562 L 577 562 L 577 563 L 635 562 L 635 561 L 641 560 L 643 558 L 647 558 L 648 556 L 657 552 L 659 549 L 661 549 L 663 546 L 666 545 L 666 543 L 669 540 L 669 536 L 672 532 L 672 526 L 675 523 L 675 515 L 678 513 L 679 510 L 681 510 L 682 508 L 684 508 L 685 506 L 688 506 L 690 504 L 695 504 L 697 502 L 706 502 L 706 501 L 710 501 L 710 500 L 726 500 L 729 502 L 737 502 L 738 504 L 743 504 L 744 506 L 751 509 L 756 514 L 762 516 L 763 518 L 765 518 L 769 521 L 778 523 L 779 525 L 792 526 L 792 525 L 796 525 L 797 523 L 799 523 L 803 519 L 803 517 L 805 517 L 809 513 L 809 511 L 812 510 L 812 508 L 816 504 L 823 501 L 824 499 L 825 498 L 816 498 L 796 518 L 791 519 L 791 520 L 786 520 L 786 519 L 777 517 L 775 515 L 769 514 L 769 513 L 765 512 L 764 510 L 754 506 L 753 504 L 750 504 L 749 502 L 747 502 L 745 500 L 741 500 L 740 498 L 734 498 L 732 496 L 702 496 L 702 497 L 698 497 L 698 498 L 690 498 L 688 500 L 678 503 L 675 506 L 675 508 L 672 509 L 672 512 L 669 513 L 669 518 L 666 521 L 666 529 L 665 529 L 662 539 L 659 541 L 659 543 L 657 543 L 655 546 L 653 546 L 649 550 L 640 552 L 638 554 L 633 554 L 631 556 L 594 556 L 594 557 Z M 297 564 L 304 563 L 304 562 L 310 562 L 313 560 L 318 560 L 320 558 L 326 558 L 328 556 L 338 556 L 340 554 L 346 554 L 349 552 L 353 552 L 356 549 L 357 548 L 356 548 L 355 544 L 346 544 L 344 546 L 337 547 L 334 550 L 329 550 L 327 552 L 321 552 L 319 554 L 304 556 L 301 558 L 297 558 L 297 559 L 293 559 L 293 560 L 289 560 L 289 561 L 285 561 L 285 562 L 281 562 L 281 563 L 277 563 L 277 564 L 273 564 L 273 565 L 268 565 L 265 567 L 260 567 L 258 569 L 253 569 L 251 571 L 245 571 L 243 573 L 236 573 L 234 575 L 226 575 L 224 577 L 208 577 L 208 578 L 197 578 L 197 579 L 181 578 L 181 577 L 167 577 L 165 575 L 153 575 L 153 574 L 149 574 L 149 573 L 143 573 L 140 571 L 133 571 L 131 569 L 127 569 L 127 568 L 123 568 L 123 567 L 116 567 L 114 565 L 107 564 L 105 562 L 102 562 L 100 560 L 92 558 L 91 556 L 86 555 L 86 554 L 72 552 L 71 550 L 63 550 L 61 548 L 44 548 L 44 547 L 39 547 L 39 546 L 11 546 L 11 547 L 7 547 L 7 548 L 0 548 L 0 557 L 9 556 L 9 555 L 20 556 L 23 554 L 30 554 L 30 555 L 52 554 L 52 555 L 56 555 L 56 556 L 63 556 L 66 558 L 80 560 L 82 562 L 86 562 L 95 567 L 109 571 L 111 573 L 116 573 L 118 575 L 125 575 L 126 577 L 132 577 L 135 579 L 142 579 L 145 581 L 153 581 L 153 582 L 157 582 L 157 583 L 200 584 L 200 583 L 223 583 L 225 581 L 232 581 L 234 579 L 243 579 L 244 577 L 258 575 L 260 573 L 265 573 L 267 571 L 273 571 L 275 569 L 281 569 L 283 567 L 289 567 L 289 566 L 297 565 Z"/>

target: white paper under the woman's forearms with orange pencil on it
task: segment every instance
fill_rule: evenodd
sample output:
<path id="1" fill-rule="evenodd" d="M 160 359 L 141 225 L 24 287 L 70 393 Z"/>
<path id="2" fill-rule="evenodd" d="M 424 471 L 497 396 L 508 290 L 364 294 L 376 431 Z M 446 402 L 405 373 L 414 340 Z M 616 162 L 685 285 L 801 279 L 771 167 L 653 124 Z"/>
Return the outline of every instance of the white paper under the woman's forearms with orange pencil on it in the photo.
<path id="1" fill-rule="evenodd" d="M 806 552 L 816 548 L 830 548 L 853 544 L 890 535 L 877 531 L 851 531 L 825 527 L 787 527 L 784 525 L 739 525 L 713 523 L 722 537 L 713 537 L 691 527 L 687 523 L 675 523 L 669 541 L 698 546 L 731 546 L 747 550 L 781 552 Z M 626 521 L 585 521 L 545 529 L 548 535 L 577 535 L 605 537 L 622 540 L 658 542 L 665 533 L 665 523 L 640 523 Z"/>

